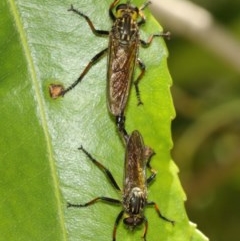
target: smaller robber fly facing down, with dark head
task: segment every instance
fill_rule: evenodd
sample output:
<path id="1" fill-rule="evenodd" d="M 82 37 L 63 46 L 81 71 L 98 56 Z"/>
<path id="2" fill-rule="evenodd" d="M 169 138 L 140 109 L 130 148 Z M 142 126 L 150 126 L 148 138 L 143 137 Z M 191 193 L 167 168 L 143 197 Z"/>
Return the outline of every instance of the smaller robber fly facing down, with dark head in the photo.
<path id="1" fill-rule="evenodd" d="M 79 149 L 82 150 L 87 155 L 87 157 L 105 173 L 115 189 L 121 191 L 111 172 L 100 162 L 94 159 L 83 147 L 80 147 Z M 153 150 L 144 145 L 141 134 L 136 130 L 133 131 L 133 133 L 129 136 L 126 146 L 122 200 L 120 201 L 117 199 L 101 196 L 96 197 L 85 204 L 68 203 L 68 207 L 87 207 L 95 204 L 97 201 L 104 201 L 110 204 L 113 203 L 121 205 L 122 210 L 118 214 L 113 228 L 113 241 L 116 240 L 117 226 L 122 218 L 123 223 L 131 230 L 144 223 L 145 229 L 143 233 L 143 239 L 146 241 L 146 234 L 148 229 L 148 221 L 144 216 L 144 208 L 146 206 L 154 206 L 160 218 L 174 224 L 174 221 L 164 217 L 161 214 L 155 202 L 147 201 L 147 186 L 156 176 L 156 171 L 153 170 L 150 165 L 150 159 L 153 154 Z M 151 172 L 151 175 L 148 178 L 146 176 L 146 168 L 148 168 Z"/>

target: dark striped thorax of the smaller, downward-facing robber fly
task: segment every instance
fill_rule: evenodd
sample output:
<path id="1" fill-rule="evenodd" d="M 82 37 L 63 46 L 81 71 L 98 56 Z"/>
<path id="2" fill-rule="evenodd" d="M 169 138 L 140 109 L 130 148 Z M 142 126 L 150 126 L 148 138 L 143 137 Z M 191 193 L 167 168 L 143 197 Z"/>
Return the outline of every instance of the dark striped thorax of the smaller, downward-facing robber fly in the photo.
<path id="1" fill-rule="evenodd" d="M 125 210 L 129 214 L 140 214 L 145 206 L 146 197 L 139 187 L 134 187 L 129 195 L 125 197 Z"/>

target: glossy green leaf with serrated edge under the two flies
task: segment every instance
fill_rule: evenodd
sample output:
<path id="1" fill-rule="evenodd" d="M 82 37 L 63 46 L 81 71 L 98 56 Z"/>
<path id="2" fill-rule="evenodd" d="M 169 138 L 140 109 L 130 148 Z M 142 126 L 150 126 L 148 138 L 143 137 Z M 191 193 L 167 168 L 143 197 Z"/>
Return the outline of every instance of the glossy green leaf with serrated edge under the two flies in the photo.
<path id="1" fill-rule="evenodd" d="M 104 174 L 77 150 L 80 145 L 109 168 L 119 185 L 124 163 L 124 145 L 106 106 L 106 59 L 64 98 L 49 97 L 49 84 L 68 86 L 107 46 L 107 39 L 93 36 L 84 19 L 67 11 L 72 3 L 98 29 L 110 29 L 110 0 L 0 3 L 0 240 L 111 240 L 121 210 L 101 202 L 66 208 L 67 201 L 85 203 L 97 196 L 121 199 Z M 145 12 L 143 39 L 161 31 Z M 155 150 L 152 166 L 158 175 L 149 188 L 149 200 L 176 221 L 173 227 L 159 219 L 154 208 L 146 208 L 147 239 L 207 240 L 188 221 L 178 169 L 170 157 L 174 109 L 164 41 L 154 39 L 140 50 L 140 57 L 147 66 L 139 86 L 144 105 L 137 107 L 132 91 L 126 129 L 139 130 Z M 141 240 L 143 229 L 130 232 L 120 222 L 117 240 Z"/>

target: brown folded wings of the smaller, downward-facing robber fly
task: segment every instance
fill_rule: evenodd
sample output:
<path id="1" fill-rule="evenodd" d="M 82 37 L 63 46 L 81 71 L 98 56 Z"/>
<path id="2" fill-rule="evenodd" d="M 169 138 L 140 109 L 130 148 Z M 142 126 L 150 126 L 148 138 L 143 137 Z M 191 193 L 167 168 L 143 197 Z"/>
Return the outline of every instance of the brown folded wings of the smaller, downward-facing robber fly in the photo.
<path id="1" fill-rule="evenodd" d="M 145 146 L 141 134 L 133 131 L 125 154 L 124 191 L 139 187 L 146 193 L 146 158 Z"/>

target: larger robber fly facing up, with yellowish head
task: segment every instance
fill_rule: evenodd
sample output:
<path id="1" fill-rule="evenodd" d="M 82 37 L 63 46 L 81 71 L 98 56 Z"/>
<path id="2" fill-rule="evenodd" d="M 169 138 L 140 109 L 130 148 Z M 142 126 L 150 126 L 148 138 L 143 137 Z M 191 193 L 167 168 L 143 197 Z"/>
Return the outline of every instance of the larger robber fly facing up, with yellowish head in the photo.
<path id="1" fill-rule="evenodd" d="M 146 2 L 140 8 L 130 4 L 130 0 L 125 4 L 119 4 L 119 0 L 115 0 L 109 7 L 109 16 L 113 21 L 110 31 L 97 30 L 89 17 L 75 9 L 72 5 L 69 11 L 85 18 L 92 32 L 96 36 L 108 36 L 109 45 L 101 52 L 96 54 L 88 65 L 85 67 L 79 78 L 68 88 L 64 89 L 61 85 L 50 85 L 50 95 L 52 98 L 64 96 L 72 90 L 87 74 L 89 69 L 98 62 L 101 57 L 108 54 L 107 65 L 107 102 L 110 113 L 116 118 L 116 125 L 127 140 L 127 132 L 125 130 L 124 110 L 128 101 L 130 86 L 133 79 L 134 68 L 136 63 L 140 67 L 140 74 L 133 82 L 138 104 L 141 104 L 138 83 L 145 72 L 144 63 L 138 58 L 139 45 L 148 47 L 154 37 L 169 36 L 169 33 L 152 34 L 147 41 L 141 40 L 139 37 L 139 27 L 145 23 L 145 16 L 142 10 L 150 3 Z M 116 7 L 116 14 L 113 9 Z"/>

